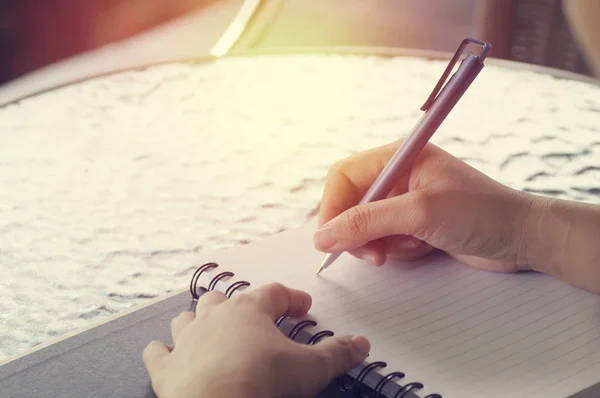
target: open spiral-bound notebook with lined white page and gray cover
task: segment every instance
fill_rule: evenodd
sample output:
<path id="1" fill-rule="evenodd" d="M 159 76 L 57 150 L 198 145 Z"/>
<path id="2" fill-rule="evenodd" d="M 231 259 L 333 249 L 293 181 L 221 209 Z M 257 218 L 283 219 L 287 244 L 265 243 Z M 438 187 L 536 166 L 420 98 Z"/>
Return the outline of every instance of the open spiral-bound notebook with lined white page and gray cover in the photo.
<path id="1" fill-rule="evenodd" d="M 0 396 L 154 396 L 152 339 L 206 290 L 280 282 L 313 307 L 278 327 L 302 344 L 362 334 L 368 361 L 319 397 L 600 396 L 600 297 L 537 273 L 475 270 L 435 253 L 373 267 L 343 255 L 319 276 L 315 224 L 198 258 L 190 286 L 0 366 Z M 342 391 L 342 390 L 345 390 Z"/>

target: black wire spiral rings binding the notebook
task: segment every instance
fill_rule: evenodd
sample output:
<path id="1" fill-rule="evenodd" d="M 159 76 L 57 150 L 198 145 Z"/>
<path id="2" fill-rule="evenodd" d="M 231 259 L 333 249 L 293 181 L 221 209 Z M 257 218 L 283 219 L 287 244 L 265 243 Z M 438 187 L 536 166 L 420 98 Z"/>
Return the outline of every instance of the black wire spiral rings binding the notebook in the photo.
<path id="1" fill-rule="evenodd" d="M 219 265 L 217 263 L 206 263 L 200 267 L 198 267 L 198 269 L 196 269 L 196 271 L 194 272 L 194 274 L 192 275 L 192 279 L 190 281 L 190 293 L 192 295 L 192 298 L 194 300 L 198 300 L 199 296 L 198 296 L 198 281 L 200 279 L 200 276 L 208 271 L 211 270 L 213 268 L 218 268 Z M 229 272 L 229 271 L 225 271 L 225 272 L 221 272 L 217 275 L 215 275 L 209 282 L 208 287 L 206 290 L 208 291 L 212 291 L 216 288 L 217 283 L 219 283 L 219 281 L 221 281 L 222 279 L 225 278 L 231 278 L 235 276 L 235 274 L 233 272 Z M 231 284 L 227 290 L 225 290 L 225 295 L 227 297 L 231 297 L 231 295 L 238 289 L 241 289 L 243 287 L 248 287 L 250 286 L 249 282 L 246 281 L 237 281 L 233 284 Z M 277 321 L 275 322 L 275 325 L 277 327 L 279 327 L 281 325 L 281 323 L 284 321 L 284 319 L 286 319 L 287 317 L 282 316 L 279 319 L 277 319 Z M 314 327 L 317 326 L 317 322 L 313 321 L 313 320 L 304 320 L 304 321 L 300 321 L 297 324 L 294 325 L 294 327 L 289 331 L 287 337 L 290 338 L 291 340 L 295 340 L 296 337 L 298 336 L 298 334 L 305 328 L 308 327 Z M 310 339 L 308 340 L 307 344 L 308 345 L 314 345 L 317 344 L 320 340 L 324 339 L 325 337 L 331 337 L 334 336 L 334 333 L 331 330 L 321 330 L 317 333 L 315 333 L 314 335 L 312 335 L 310 337 Z M 375 387 L 373 388 L 373 391 L 371 392 L 370 395 L 366 396 L 364 394 L 364 380 L 365 378 L 371 373 L 376 371 L 377 369 L 383 369 L 387 367 L 387 363 L 383 362 L 383 361 L 377 361 L 377 362 L 372 362 L 369 363 L 368 365 L 366 365 L 358 374 L 358 376 L 356 376 L 356 378 L 349 382 L 348 379 L 352 380 L 352 377 L 350 376 L 342 376 L 342 377 L 338 377 L 337 378 L 337 384 L 338 384 L 338 388 L 342 391 L 351 391 L 354 393 L 354 396 L 357 398 L 378 398 L 378 397 L 383 397 L 383 389 L 385 388 L 385 385 L 389 382 L 391 382 L 394 379 L 402 379 L 404 378 L 406 375 L 402 372 L 391 372 L 388 373 L 385 376 L 382 376 L 381 380 L 379 380 L 379 382 L 375 385 Z M 404 386 L 401 386 L 400 390 L 398 392 L 396 392 L 396 395 L 394 395 L 393 398 L 404 398 L 406 397 L 406 395 L 408 393 L 410 393 L 411 391 L 417 390 L 417 389 L 421 389 L 423 388 L 423 384 L 419 383 L 419 382 L 413 382 L 413 383 L 407 383 Z M 441 395 L 439 394 L 430 394 L 427 395 L 424 398 L 443 398 Z"/>

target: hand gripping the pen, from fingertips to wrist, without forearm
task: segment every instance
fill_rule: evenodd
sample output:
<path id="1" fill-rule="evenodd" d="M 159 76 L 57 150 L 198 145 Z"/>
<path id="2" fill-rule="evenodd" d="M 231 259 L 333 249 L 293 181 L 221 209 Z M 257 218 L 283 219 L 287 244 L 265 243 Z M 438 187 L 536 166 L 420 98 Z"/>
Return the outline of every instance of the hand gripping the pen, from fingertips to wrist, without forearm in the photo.
<path id="1" fill-rule="evenodd" d="M 486 177 L 433 144 L 388 198 L 356 206 L 398 149 L 395 142 L 334 165 L 327 177 L 315 247 L 349 251 L 381 265 L 435 249 L 473 267 L 515 272 L 532 195 Z"/>

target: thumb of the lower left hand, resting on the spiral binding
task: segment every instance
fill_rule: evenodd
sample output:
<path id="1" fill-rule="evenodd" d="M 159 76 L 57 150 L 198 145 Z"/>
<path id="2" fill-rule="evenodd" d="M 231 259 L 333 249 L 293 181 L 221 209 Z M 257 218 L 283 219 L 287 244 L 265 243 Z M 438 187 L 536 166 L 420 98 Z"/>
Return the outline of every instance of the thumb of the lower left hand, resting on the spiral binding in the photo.
<path id="1" fill-rule="evenodd" d="M 311 378 L 320 388 L 331 380 L 360 365 L 369 354 L 371 345 L 362 336 L 328 337 L 314 346 L 306 347 L 311 352 Z"/>

